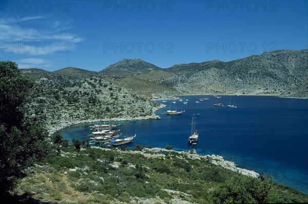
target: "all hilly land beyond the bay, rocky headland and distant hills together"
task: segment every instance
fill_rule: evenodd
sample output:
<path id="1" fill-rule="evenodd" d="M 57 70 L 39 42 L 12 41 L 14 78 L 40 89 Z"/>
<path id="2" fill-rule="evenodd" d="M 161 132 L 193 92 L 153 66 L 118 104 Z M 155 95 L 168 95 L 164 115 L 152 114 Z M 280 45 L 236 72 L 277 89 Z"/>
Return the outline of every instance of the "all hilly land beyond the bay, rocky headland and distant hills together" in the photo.
<path id="1" fill-rule="evenodd" d="M 102 71 L 67 67 L 20 69 L 36 78 L 25 106 L 42 115 L 50 133 L 87 121 L 155 118 L 163 105 L 151 98 L 181 94 L 308 97 L 308 50 L 276 50 L 230 62 L 178 64 L 163 69 L 124 59 Z"/>

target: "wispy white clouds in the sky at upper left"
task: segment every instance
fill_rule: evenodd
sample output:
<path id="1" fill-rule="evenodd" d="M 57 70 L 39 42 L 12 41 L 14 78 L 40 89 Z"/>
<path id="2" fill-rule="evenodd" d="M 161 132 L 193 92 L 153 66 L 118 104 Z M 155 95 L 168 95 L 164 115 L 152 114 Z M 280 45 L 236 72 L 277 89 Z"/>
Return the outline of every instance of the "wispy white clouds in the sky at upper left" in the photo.
<path id="1" fill-rule="evenodd" d="M 6 45 L 13 45 L 16 43 L 49 43 L 51 45 L 69 43 L 71 47 L 73 44 L 80 43 L 85 39 L 71 32 L 64 32 L 71 29 L 70 22 L 61 22 L 57 20 L 50 20 L 46 16 L 26 16 L 17 18 L 2 18 L 0 20 L 0 40 Z M 9 51 L 10 49 L 5 49 Z M 14 51 L 14 50 L 13 50 Z M 23 51 L 23 50 L 21 50 Z M 49 52 L 35 51 L 29 52 L 29 54 L 47 54 L 52 53 L 55 50 Z M 18 52 L 20 53 L 20 52 Z"/>

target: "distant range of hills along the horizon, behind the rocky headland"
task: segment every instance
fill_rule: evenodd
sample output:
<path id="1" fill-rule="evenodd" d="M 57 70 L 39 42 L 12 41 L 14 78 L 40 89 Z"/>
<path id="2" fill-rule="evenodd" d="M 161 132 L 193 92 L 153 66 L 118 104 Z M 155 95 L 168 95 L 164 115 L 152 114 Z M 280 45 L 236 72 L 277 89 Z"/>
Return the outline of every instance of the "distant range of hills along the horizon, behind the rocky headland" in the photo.
<path id="1" fill-rule="evenodd" d="M 162 69 L 139 58 L 124 59 L 100 72 L 67 67 L 53 72 L 23 69 L 36 78 L 74 81 L 103 78 L 145 97 L 179 94 L 271 94 L 308 97 L 308 50 L 275 50 L 230 62 L 213 60 Z"/>

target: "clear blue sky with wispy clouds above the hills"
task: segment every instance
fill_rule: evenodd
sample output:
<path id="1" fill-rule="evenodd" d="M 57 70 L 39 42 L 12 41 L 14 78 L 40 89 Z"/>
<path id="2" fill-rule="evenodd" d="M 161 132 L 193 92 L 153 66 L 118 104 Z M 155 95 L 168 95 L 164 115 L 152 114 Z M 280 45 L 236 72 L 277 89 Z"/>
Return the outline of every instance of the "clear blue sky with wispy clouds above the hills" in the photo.
<path id="1" fill-rule="evenodd" d="M 308 48 L 307 1 L 1 1 L 1 60 L 100 71 Z"/>

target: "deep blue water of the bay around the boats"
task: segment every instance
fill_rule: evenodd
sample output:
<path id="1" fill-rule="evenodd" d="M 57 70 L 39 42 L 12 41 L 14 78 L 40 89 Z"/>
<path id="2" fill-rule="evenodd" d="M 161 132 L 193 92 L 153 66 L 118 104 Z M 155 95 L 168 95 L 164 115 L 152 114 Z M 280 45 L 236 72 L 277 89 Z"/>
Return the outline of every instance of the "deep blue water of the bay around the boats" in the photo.
<path id="1" fill-rule="evenodd" d="M 277 183 L 308 194 L 308 100 L 264 96 L 232 96 L 236 109 L 217 107 L 214 103 L 229 103 L 229 96 L 194 103 L 204 96 L 182 96 L 188 104 L 166 100 L 167 107 L 156 114 L 161 120 L 121 121 L 124 135 L 137 134 L 126 148 L 136 144 L 165 147 L 174 150 L 190 149 L 187 139 L 192 114 L 198 113 L 196 129 L 199 133 L 197 153 L 215 154 L 237 163 L 240 168 L 272 175 Z M 158 101 L 160 102 L 160 101 Z M 162 114 L 177 107 L 183 115 Z M 85 123 L 63 129 L 65 139 L 88 139 L 91 133 Z"/>

